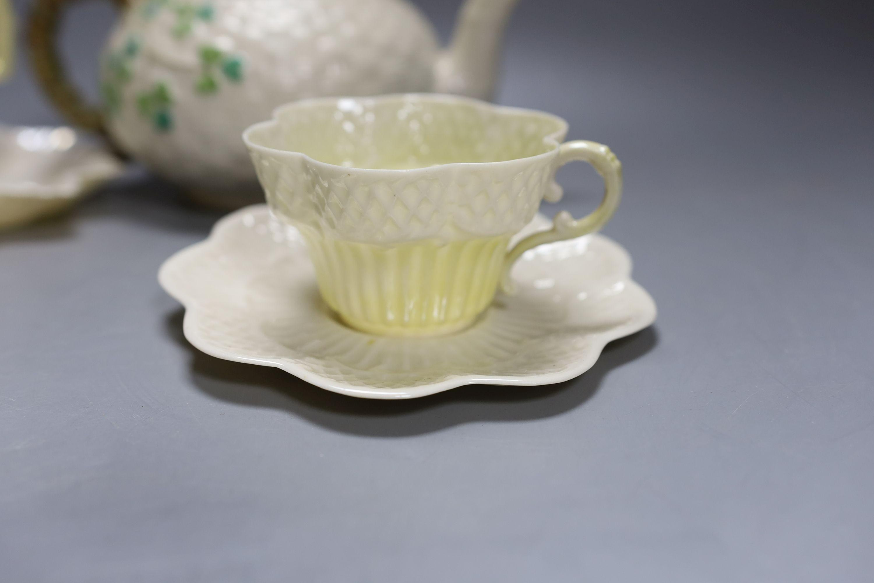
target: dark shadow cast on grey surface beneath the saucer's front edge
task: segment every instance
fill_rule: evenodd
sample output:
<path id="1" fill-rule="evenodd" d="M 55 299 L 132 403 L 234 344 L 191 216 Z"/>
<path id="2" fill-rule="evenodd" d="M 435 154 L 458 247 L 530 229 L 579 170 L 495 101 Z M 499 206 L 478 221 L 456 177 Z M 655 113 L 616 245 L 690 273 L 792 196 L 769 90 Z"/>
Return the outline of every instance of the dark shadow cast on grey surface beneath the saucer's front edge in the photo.
<path id="1" fill-rule="evenodd" d="M 545 419 L 585 403 L 609 371 L 658 344 L 654 326 L 607 344 L 591 369 L 555 385 L 465 385 L 420 399 L 356 399 L 309 385 L 288 372 L 239 364 L 195 349 L 182 332 L 184 309 L 166 318 L 170 337 L 191 353 L 198 389 L 244 406 L 272 407 L 345 434 L 402 437 L 428 434 L 468 422 Z"/>

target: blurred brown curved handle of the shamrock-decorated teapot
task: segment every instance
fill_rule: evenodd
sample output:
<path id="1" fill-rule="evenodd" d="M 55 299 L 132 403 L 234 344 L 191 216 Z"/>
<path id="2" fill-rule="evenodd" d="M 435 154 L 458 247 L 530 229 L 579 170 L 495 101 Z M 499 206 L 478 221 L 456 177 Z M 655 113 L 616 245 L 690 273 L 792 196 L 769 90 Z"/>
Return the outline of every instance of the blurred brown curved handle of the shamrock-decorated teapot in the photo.
<path id="1" fill-rule="evenodd" d="M 101 109 L 85 101 L 71 82 L 58 50 L 58 30 L 63 10 L 80 0 L 36 0 L 28 21 L 27 41 L 34 74 L 61 115 L 73 125 L 106 137 Z M 124 8 L 128 0 L 110 0 Z"/>

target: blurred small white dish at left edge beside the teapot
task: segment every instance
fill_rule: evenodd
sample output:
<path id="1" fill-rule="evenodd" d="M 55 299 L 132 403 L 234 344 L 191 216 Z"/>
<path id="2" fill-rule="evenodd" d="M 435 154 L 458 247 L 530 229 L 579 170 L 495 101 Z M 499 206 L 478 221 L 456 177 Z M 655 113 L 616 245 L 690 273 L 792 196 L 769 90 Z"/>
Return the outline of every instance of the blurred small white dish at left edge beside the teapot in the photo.
<path id="1" fill-rule="evenodd" d="M 60 212 L 122 170 L 71 128 L 0 125 L 0 229 Z"/>

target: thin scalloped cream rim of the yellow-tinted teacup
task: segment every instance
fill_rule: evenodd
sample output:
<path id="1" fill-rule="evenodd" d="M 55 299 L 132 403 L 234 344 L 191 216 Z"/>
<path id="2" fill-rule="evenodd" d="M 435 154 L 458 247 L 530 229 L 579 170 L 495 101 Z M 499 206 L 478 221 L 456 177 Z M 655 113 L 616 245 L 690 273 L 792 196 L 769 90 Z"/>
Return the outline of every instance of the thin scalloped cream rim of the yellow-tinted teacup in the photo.
<path id="1" fill-rule="evenodd" d="M 252 135 L 263 128 L 276 128 L 280 124 L 280 117 L 287 111 L 291 111 L 298 108 L 308 108 L 313 106 L 323 106 L 329 105 L 332 103 L 338 103 L 343 100 L 352 100 L 352 101 L 404 101 L 404 100 L 420 100 L 420 101 L 431 101 L 434 103 L 447 103 L 447 104 L 459 104 L 459 105 L 468 105 L 473 106 L 475 108 L 489 111 L 495 114 L 500 115 L 517 115 L 517 116 L 526 116 L 526 117 L 538 117 L 544 120 L 556 121 L 558 123 L 558 128 L 544 136 L 543 141 L 544 144 L 549 146 L 550 149 L 542 152 L 536 156 L 519 156 L 515 158 L 510 158 L 510 160 L 500 160 L 494 162 L 451 162 L 451 163 L 437 163 L 430 166 L 423 166 L 419 168 L 359 168 L 357 166 L 342 166 L 340 164 L 323 162 L 317 158 L 309 156 L 308 154 L 304 154 L 303 152 L 294 150 L 294 149 L 279 149 L 273 148 L 271 146 L 265 146 L 263 144 L 253 142 Z M 505 105 L 496 105 L 494 103 L 490 103 L 489 101 L 482 101 L 475 99 L 473 97 L 464 97 L 461 95 L 452 95 L 452 94 L 427 94 L 427 93 L 408 93 L 408 94 L 385 94 L 385 95 L 371 95 L 371 96 L 348 96 L 348 97 L 311 97 L 308 99 L 302 99 L 298 101 L 289 101 L 288 103 L 284 103 L 278 108 L 273 110 L 273 114 L 271 115 L 269 120 L 259 121 L 258 123 L 253 123 L 253 125 L 246 128 L 243 132 L 243 142 L 246 142 L 246 147 L 249 149 L 257 149 L 258 151 L 266 154 L 270 154 L 273 156 L 292 156 L 299 157 L 303 160 L 306 160 L 308 163 L 314 164 L 316 166 L 322 167 L 326 170 L 350 170 L 354 169 L 356 173 L 360 174 L 370 174 L 378 175 L 380 173 L 385 173 L 388 175 L 399 176 L 400 174 L 409 174 L 414 172 L 434 172 L 434 170 L 440 169 L 452 169 L 452 168 L 461 168 L 467 166 L 483 166 L 487 164 L 496 164 L 496 165 L 510 165 L 513 163 L 519 163 L 520 161 L 533 161 L 541 158 L 545 158 L 546 156 L 552 156 L 555 153 L 555 150 L 561 145 L 562 136 L 566 135 L 569 125 L 564 118 L 559 117 L 558 115 L 553 115 L 544 111 L 538 111 L 537 109 L 526 109 L 526 108 L 517 108 L 513 106 L 505 106 Z"/>

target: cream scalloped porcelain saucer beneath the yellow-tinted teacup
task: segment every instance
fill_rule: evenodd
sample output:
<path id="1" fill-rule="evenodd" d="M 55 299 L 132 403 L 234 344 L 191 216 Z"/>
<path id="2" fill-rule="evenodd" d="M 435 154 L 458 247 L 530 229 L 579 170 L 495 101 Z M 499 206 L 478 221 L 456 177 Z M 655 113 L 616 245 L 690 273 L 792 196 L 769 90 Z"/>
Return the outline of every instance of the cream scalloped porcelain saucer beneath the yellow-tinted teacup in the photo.
<path id="1" fill-rule="evenodd" d="M 526 231 L 550 225 L 538 215 Z M 628 253 L 602 235 L 533 249 L 513 277 L 517 295 L 499 294 L 479 322 L 451 336 L 350 330 L 319 297 L 300 234 L 266 205 L 221 219 L 158 274 L 184 305 L 184 334 L 198 350 L 368 399 L 473 383 L 558 383 L 588 370 L 610 341 L 655 321 L 655 302 L 631 280 Z"/>

